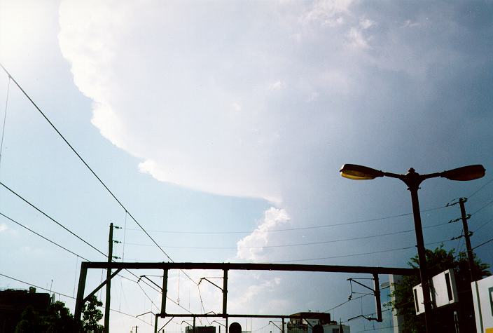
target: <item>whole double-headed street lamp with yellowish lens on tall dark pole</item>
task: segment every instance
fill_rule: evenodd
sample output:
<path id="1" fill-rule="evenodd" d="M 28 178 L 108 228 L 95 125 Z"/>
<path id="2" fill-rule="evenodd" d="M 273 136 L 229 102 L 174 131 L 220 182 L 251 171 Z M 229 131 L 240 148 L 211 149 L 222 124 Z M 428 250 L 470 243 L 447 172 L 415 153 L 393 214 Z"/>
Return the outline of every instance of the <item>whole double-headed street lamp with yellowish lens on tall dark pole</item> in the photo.
<path id="1" fill-rule="evenodd" d="M 419 200 L 417 191 L 419 184 L 425 179 L 434 177 L 443 177 L 451 180 L 468 181 L 481 178 L 485 175 L 485 168 L 482 165 L 468 165 L 457 169 L 452 169 L 443 172 L 435 172 L 427 175 L 419 175 L 413 168 L 408 170 L 405 175 L 398 175 L 396 173 L 384 172 L 381 170 L 375 170 L 363 165 L 345 164 L 340 169 L 340 175 L 345 178 L 355 180 L 375 179 L 377 177 L 391 177 L 401 179 L 411 192 L 412 201 L 412 215 L 415 220 L 415 233 L 417 243 L 417 255 L 419 259 L 419 278 L 421 279 L 421 285 L 423 290 L 423 304 L 424 304 L 424 320 L 426 323 L 426 332 L 433 332 L 433 323 L 431 322 L 431 299 L 428 276 L 426 274 L 426 254 L 424 249 L 423 230 L 421 225 L 421 215 L 419 213 Z"/>

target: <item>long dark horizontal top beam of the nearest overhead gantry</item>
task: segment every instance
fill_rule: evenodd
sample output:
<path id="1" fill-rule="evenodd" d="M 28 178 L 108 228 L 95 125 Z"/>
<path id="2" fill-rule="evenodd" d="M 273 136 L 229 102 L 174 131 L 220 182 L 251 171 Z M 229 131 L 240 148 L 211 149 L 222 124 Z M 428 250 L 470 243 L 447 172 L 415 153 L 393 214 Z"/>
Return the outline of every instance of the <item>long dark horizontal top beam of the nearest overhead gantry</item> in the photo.
<path id="1" fill-rule="evenodd" d="M 211 269 L 237 271 L 303 271 L 333 273 L 397 274 L 417 275 L 417 269 L 373 266 L 334 266 L 306 264 L 251 264 L 251 263 L 206 263 L 206 262 L 105 262 L 87 263 L 88 269 Z"/>

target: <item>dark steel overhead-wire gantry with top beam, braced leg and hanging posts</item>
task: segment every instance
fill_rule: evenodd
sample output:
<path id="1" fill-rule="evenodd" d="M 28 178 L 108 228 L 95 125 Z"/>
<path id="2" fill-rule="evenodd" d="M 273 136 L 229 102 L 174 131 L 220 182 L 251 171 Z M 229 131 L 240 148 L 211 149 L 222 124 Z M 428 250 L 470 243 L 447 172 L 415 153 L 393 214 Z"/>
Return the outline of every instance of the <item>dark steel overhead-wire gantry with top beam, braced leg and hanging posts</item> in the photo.
<path id="1" fill-rule="evenodd" d="M 87 296 L 85 294 L 85 280 L 89 269 L 107 269 L 109 270 L 108 278 L 99 286 L 92 290 Z M 115 269 L 113 273 L 111 270 Z M 81 263 L 81 274 L 79 276 L 76 308 L 74 311 L 75 319 L 80 322 L 83 304 L 85 304 L 92 295 L 98 292 L 102 287 L 109 283 L 123 269 L 158 269 L 162 270 L 162 298 L 161 311 L 155 314 L 154 332 L 158 332 L 158 318 L 166 317 L 193 317 L 195 318 L 215 317 L 225 318 L 226 333 L 228 333 L 228 318 L 293 318 L 293 315 L 279 314 L 231 314 L 228 313 L 228 271 L 296 271 L 296 272 L 326 272 L 326 273 L 368 273 L 373 275 L 375 290 L 375 304 L 377 306 L 377 320 L 382 321 L 382 309 L 380 308 L 380 285 L 379 274 L 396 274 L 403 276 L 417 275 L 416 269 L 403 269 L 397 267 L 373 267 L 373 266 L 335 266 L 335 265 L 307 265 L 307 264 L 251 264 L 251 263 L 193 263 L 193 262 L 91 262 L 83 261 Z M 169 270 L 217 270 L 223 271 L 223 309 L 222 313 L 167 313 L 167 277 Z M 109 304 L 106 304 L 109 306 Z M 283 325 L 284 327 L 284 325 Z"/>

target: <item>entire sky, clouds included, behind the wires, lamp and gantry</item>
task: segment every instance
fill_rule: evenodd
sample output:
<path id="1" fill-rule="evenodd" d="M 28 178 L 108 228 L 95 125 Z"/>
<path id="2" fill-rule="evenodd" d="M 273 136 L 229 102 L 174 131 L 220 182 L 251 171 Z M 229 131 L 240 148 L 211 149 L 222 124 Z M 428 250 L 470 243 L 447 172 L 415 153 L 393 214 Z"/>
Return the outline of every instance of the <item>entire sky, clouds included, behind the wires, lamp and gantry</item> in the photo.
<path id="1" fill-rule="evenodd" d="M 489 1 L 0 6 L 2 64 L 174 261 L 405 266 L 412 248 L 343 257 L 415 245 L 405 185 L 343 179 L 344 163 L 421 173 L 480 163 L 484 178 L 429 179 L 420 200 L 429 210 L 470 196 L 467 210 L 478 211 L 470 229 L 480 228 L 473 246 L 492 236 Z M 3 124 L 8 76 L 1 77 Z M 1 182 L 101 250 L 109 223 L 126 224 L 115 232 L 125 239 L 125 252 L 116 245 L 116 255 L 165 260 L 13 82 L 6 110 Z M 0 212 L 87 259 L 104 259 L 5 189 Z M 458 215 L 454 206 L 422 219 L 426 227 Z M 367 219 L 377 220 L 350 223 Z M 460 232 L 458 224 L 426 228 L 425 243 Z M 48 288 L 53 279 L 53 290 L 74 293 L 80 259 L 3 217 L 0 238 L 0 273 Z M 458 240 L 444 245 L 464 249 Z M 491 243 L 477 249 L 491 264 L 490 253 Z M 100 275 L 92 274 L 92 283 Z M 325 311 L 347 299 L 347 277 L 233 274 L 230 309 Z M 183 274 L 170 284 L 170 297 L 203 311 Z M 0 285 L 25 287 L 4 277 Z M 134 283 L 114 285 L 112 307 L 132 315 L 153 308 Z M 217 312 L 218 291 L 202 284 L 200 291 L 205 311 Z M 159 304 L 158 294 L 147 292 Z M 366 297 L 332 314 L 347 320 L 372 306 Z M 136 324 L 151 332 L 112 314 L 113 329 Z"/>

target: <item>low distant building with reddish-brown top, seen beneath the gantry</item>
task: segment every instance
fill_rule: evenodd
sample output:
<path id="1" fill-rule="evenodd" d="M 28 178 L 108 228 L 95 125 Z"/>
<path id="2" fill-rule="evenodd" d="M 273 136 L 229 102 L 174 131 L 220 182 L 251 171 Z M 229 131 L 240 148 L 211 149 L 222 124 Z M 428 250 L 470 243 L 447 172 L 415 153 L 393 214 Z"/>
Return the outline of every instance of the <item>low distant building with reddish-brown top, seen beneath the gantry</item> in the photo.
<path id="1" fill-rule="evenodd" d="M 349 326 L 332 321 L 330 313 L 320 312 L 293 313 L 287 323 L 287 333 L 317 333 L 315 325 L 321 325 L 324 333 L 351 333 Z"/>

